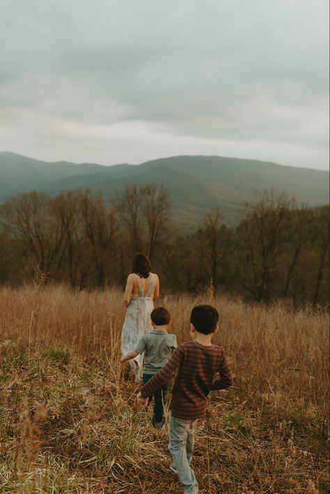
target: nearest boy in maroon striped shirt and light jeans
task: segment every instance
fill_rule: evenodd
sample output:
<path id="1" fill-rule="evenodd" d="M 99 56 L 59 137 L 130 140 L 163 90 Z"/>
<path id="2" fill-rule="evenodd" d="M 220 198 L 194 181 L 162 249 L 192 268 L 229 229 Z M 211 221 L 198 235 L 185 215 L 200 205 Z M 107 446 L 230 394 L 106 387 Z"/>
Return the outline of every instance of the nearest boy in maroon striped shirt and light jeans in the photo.
<path id="1" fill-rule="evenodd" d="M 194 449 L 194 425 L 206 415 L 206 397 L 211 390 L 223 390 L 233 384 L 223 349 L 212 344 L 217 333 L 219 314 L 211 305 L 197 305 L 191 311 L 192 342 L 179 344 L 167 364 L 148 381 L 137 395 L 142 403 L 162 388 L 178 369 L 168 420 L 168 449 L 173 456 L 171 470 L 180 477 L 185 494 L 198 493 L 194 471 L 190 467 Z M 214 381 L 219 372 L 220 379 Z"/>

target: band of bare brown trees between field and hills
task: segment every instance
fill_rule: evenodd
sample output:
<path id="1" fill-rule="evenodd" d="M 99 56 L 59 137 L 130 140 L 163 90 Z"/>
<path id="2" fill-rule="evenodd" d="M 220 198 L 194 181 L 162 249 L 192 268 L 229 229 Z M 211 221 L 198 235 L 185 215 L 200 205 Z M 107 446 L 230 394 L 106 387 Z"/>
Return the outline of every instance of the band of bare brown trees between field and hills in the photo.
<path id="1" fill-rule="evenodd" d="M 152 260 L 163 293 L 329 303 L 328 206 L 297 206 L 264 191 L 237 225 L 214 209 L 187 232 L 173 219 L 168 191 L 152 183 L 127 186 L 111 205 L 91 191 L 31 192 L 0 205 L 2 285 L 20 285 L 37 270 L 74 289 L 123 286 L 137 252 Z"/>

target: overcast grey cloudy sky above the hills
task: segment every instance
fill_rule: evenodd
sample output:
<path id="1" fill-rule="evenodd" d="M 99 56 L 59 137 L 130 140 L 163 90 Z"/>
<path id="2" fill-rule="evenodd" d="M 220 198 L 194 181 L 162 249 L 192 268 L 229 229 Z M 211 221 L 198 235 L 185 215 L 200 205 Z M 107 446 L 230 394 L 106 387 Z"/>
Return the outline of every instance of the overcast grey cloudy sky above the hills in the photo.
<path id="1" fill-rule="evenodd" d="M 329 0 L 1 0 L 0 150 L 329 169 Z"/>

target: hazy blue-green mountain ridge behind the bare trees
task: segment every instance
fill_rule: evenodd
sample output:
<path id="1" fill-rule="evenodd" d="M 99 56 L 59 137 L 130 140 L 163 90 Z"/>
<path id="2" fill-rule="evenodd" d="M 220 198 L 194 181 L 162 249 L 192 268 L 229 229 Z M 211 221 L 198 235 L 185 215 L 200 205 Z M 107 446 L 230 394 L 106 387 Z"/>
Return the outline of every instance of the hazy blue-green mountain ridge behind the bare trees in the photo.
<path id="1" fill-rule="evenodd" d="M 141 165 L 102 166 L 47 163 L 0 152 L 0 202 L 29 191 L 56 196 L 68 189 L 101 191 L 104 200 L 111 202 L 124 186 L 146 182 L 167 187 L 173 200 L 173 216 L 186 225 L 196 225 L 214 207 L 234 223 L 246 200 L 270 188 L 311 206 L 329 203 L 329 172 L 268 161 L 178 156 Z"/>

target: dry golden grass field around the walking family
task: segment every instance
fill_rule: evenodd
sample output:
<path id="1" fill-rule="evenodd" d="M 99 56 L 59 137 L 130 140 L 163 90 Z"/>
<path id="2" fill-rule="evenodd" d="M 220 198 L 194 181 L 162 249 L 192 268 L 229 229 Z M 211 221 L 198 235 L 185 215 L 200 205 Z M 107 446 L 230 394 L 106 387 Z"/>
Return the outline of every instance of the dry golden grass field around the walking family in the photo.
<path id="1" fill-rule="evenodd" d="M 196 303 L 219 310 L 235 375 L 198 425 L 201 493 L 329 493 L 329 314 L 166 296 L 179 342 Z M 1 289 L 0 314 L 1 493 L 182 492 L 119 365 L 120 291 Z"/>

